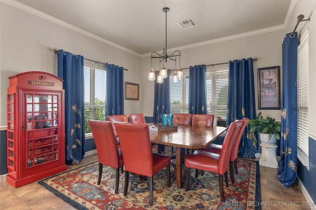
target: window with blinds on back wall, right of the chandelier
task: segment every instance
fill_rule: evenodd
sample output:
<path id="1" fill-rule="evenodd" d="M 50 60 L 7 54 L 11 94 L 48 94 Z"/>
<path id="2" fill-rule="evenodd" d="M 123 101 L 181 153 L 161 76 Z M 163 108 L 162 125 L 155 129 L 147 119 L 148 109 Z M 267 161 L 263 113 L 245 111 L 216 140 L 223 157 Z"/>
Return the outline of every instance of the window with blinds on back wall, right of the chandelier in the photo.
<path id="1" fill-rule="evenodd" d="M 206 100 L 207 114 L 214 115 L 214 119 L 220 117 L 226 121 L 228 94 L 228 70 L 208 70 L 206 72 Z M 214 120 L 216 125 L 217 120 Z M 226 126 L 226 122 L 223 125 Z"/>

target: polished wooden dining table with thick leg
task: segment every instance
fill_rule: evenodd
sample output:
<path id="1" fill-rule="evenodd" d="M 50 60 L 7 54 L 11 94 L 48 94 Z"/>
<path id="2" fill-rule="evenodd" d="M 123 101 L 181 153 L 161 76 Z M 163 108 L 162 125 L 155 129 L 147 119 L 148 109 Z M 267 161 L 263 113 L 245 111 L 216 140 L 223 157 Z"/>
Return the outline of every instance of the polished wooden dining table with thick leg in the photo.
<path id="1" fill-rule="evenodd" d="M 182 184 L 182 160 L 185 149 L 206 148 L 226 130 L 226 127 L 220 126 L 178 125 L 178 130 L 160 132 L 150 130 L 150 139 L 152 143 L 176 148 L 176 161 L 172 165 L 175 167 L 177 186 L 180 189 Z"/>

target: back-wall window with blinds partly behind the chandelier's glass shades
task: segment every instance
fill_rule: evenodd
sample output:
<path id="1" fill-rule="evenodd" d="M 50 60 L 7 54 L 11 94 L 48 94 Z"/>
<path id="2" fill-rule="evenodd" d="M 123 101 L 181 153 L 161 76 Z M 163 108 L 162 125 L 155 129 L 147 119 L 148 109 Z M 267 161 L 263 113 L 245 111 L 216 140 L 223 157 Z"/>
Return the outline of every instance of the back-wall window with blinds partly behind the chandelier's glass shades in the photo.
<path id="1" fill-rule="evenodd" d="M 177 83 L 170 77 L 171 114 L 189 113 L 189 72 L 183 72 L 183 79 Z"/>

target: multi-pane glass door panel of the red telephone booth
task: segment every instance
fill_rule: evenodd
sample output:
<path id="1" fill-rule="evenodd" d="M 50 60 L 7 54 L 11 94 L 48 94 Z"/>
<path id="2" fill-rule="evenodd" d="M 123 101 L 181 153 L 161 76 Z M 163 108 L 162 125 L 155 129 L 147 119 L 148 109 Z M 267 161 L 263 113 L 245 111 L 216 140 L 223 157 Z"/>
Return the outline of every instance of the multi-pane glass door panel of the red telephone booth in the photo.
<path id="1" fill-rule="evenodd" d="M 58 160 L 58 96 L 26 94 L 28 168 Z"/>

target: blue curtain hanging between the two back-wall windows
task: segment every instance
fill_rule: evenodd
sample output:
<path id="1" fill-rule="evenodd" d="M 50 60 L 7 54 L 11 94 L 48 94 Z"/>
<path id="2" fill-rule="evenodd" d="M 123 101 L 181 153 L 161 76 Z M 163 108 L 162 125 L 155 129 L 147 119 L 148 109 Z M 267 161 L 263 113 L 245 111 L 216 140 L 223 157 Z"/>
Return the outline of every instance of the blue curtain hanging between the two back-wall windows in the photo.
<path id="1" fill-rule="evenodd" d="M 206 66 L 190 66 L 189 71 L 189 113 L 207 114 Z"/>

